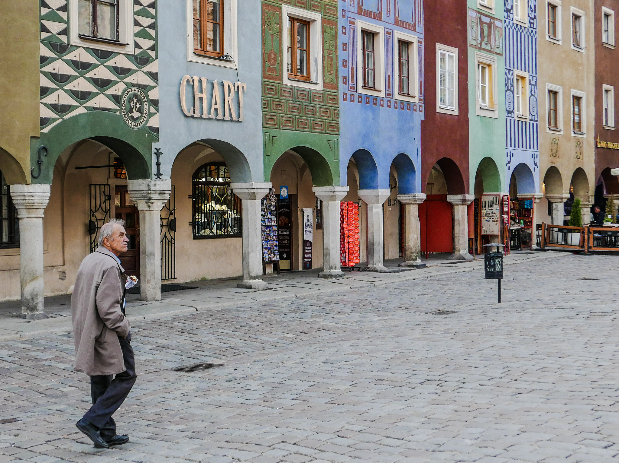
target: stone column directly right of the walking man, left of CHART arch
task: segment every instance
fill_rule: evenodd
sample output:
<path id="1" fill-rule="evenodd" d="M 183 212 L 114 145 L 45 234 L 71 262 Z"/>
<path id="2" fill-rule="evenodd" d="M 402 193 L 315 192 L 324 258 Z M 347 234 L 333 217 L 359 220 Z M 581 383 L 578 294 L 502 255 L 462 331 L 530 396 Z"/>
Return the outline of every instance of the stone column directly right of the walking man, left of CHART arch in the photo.
<path id="1" fill-rule="evenodd" d="M 140 298 L 161 300 L 161 210 L 170 199 L 169 178 L 128 180 L 129 196 L 140 211 Z"/>

